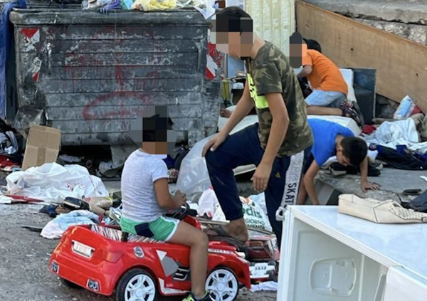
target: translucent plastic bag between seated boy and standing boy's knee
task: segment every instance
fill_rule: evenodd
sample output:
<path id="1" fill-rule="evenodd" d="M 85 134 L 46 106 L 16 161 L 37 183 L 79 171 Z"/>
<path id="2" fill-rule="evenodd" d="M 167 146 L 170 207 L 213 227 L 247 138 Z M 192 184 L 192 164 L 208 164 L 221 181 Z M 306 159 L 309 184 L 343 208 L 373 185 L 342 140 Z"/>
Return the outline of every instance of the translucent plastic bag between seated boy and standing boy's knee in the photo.
<path id="1" fill-rule="evenodd" d="M 179 169 L 178 180 L 176 181 L 176 190 L 186 194 L 186 199 L 199 202 L 201 194 L 211 186 L 206 160 L 201 157 L 201 152 L 206 144 L 215 134 L 201 139 L 194 144 L 186 157 L 182 159 Z"/>

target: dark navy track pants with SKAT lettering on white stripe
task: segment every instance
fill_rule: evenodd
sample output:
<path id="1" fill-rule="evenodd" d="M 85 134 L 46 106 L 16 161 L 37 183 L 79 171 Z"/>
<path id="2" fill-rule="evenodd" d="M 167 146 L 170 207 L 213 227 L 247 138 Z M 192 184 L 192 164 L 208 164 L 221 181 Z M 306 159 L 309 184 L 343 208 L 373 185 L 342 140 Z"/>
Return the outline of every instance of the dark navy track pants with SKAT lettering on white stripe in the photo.
<path id="1" fill-rule="evenodd" d="M 267 189 L 265 189 L 265 205 L 268 219 L 275 235 L 280 242 L 282 238 L 282 222 L 277 221 L 275 213 L 284 204 L 295 204 L 302 175 L 303 164 L 310 155 L 311 147 L 303 151 L 302 160 L 292 157 L 276 157 L 271 169 Z M 229 136 L 214 152 L 207 152 L 206 165 L 211 184 L 219 204 L 228 221 L 243 218 L 243 208 L 238 195 L 233 169 L 242 165 L 258 166 L 263 159 L 264 149 L 258 137 L 258 123 L 246 127 Z"/>

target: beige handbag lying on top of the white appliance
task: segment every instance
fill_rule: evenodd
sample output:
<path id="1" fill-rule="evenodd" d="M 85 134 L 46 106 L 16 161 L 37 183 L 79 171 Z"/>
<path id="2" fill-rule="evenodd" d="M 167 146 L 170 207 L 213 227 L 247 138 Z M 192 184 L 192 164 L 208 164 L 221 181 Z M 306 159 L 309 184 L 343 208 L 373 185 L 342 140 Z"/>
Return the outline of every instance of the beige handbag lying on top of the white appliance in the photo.
<path id="1" fill-rule="evenodd" d="M 396 201 L 361 199 L 353 194 L 339 196 L 338 212 L 374 223 L 427 223 L 427 213 L 406 209 Z"/>

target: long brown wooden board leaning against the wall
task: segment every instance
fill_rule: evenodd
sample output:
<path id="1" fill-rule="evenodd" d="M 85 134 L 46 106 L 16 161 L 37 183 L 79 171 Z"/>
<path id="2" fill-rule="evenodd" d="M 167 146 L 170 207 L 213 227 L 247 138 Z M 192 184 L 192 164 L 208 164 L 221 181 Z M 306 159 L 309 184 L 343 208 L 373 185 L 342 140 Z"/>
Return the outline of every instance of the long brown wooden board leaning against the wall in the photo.
<path id="1" fill-rule="evenodd" d="M 427 47 L 296 1 L 297 31 L 314 38 L 340 68 L 374 68 L 376 93 L 398 102 L 405 95 L 427 113 Z"/>

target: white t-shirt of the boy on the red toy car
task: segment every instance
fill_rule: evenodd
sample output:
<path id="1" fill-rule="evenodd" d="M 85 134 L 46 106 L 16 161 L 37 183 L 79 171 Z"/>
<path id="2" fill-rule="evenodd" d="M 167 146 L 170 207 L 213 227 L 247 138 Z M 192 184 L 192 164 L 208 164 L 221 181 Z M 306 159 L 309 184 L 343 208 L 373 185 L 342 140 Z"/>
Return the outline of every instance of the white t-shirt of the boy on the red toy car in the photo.
<path id="1" fill-rule="evenodd" d="M 168 178 L 166 163 L 160 157 L 137 149 L 125 162 L 122 171 L 123 216 L 148 223 L 166 210 L 159 206 L 154 181 Z"/>

